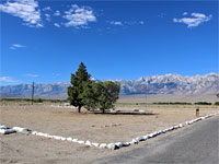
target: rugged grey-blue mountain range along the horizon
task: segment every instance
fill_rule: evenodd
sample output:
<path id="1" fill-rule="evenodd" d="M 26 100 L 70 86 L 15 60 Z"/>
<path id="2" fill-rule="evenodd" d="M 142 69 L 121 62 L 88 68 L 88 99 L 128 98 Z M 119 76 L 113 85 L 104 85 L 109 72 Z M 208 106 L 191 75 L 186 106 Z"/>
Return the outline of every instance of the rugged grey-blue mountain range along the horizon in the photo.
<path id="1" fill-rule="evenodd" d="M 112 80 L 120 83 L 120 95 L 168 94 L 168 95 L 212 95 L 219 92 L 219 73 L 182 77 L 165 74 L 140 78 L 138 80 Z M 36 83 L 35 95 L 66 97 L 70 83 Z M 147 87 L 147 90 L 145 90 Z M 0 94 L 7 96 L 31 96 L 32 84 L 0 86 Z"/>

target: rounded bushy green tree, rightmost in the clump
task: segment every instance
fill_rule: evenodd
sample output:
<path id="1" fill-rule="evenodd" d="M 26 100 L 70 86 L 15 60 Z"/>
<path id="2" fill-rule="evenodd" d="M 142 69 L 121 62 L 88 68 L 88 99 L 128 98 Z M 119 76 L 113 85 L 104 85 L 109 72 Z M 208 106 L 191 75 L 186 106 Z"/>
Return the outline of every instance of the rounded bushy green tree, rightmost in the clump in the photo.
<path id="1" fill-rule="evenodd" d="M 105 113 L 105 109 L 113 108 L 114 103 L 118 99 L 120 84 L 112 81 L 100 82 L 96 86 L 97 107 Z"/>

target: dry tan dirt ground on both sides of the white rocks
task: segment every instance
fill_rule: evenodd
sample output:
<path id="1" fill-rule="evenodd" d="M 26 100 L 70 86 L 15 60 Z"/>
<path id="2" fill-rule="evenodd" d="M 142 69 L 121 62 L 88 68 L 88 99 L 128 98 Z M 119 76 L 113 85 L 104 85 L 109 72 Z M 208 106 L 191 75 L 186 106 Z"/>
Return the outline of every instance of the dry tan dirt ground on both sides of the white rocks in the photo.
<path id="1" fill-rule="evenodd" d="M 132 110 L 136 107 L 117 107 Z M 8 127 L 27 127 L 31 130 L 90 140 L 99 143 L 125 142 L 132 138 L 162 130 L 195 118 L 195 107 L 148 106 L 152 115 L 78 114 L 76 108 L 50 105 L 5 105 L 0 107 L 0 124 Z M 200 116 L 216 113 L 219 108 L 200 107 Z M 147 147 L 157 139 L 140 142 L 119 150 L 89 148 L 69 141 L 46 139 L 32 134 L 0 134 L 1 163 L 92 163 L 115 153 L 138 147 Z M 159 138 L 158 138 L 159 139 Z"/>

